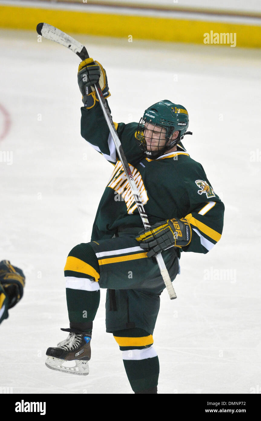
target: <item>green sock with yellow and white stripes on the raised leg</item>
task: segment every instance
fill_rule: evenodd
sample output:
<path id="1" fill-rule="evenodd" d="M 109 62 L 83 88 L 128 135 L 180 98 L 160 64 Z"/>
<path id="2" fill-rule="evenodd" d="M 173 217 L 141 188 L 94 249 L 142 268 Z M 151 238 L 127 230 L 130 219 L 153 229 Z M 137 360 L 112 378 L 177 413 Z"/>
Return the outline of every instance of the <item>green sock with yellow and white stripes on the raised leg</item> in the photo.
<path id="1" fill-rule="evenodd" d="M 98 259 L 90 244 L 76 245 L 64 268 L 70 328 L 92 332 L 92 321 L 100 304 Z"/>

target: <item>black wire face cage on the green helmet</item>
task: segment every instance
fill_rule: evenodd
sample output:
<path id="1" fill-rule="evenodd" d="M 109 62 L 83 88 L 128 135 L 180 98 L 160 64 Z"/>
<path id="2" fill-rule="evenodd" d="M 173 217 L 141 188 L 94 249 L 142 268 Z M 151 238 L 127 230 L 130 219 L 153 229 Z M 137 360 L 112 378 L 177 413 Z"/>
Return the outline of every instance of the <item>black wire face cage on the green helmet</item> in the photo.
<path id="1" fill-rule="evenodd" d="M 148 124 L 150 124 L 149 129 Z M 159 157 L 179 142 L 180 138 L 178 136 L 177 139 L 168 144 L 174 131 L 174 127 L 158 125 L 151 120 L 141 118 L 137 127 L 136 141 L 145 156 Z M 146 134 L 146 139 L 151 142 L 151 147 L 150 145 L 147 146 L 144 134 Z"/>

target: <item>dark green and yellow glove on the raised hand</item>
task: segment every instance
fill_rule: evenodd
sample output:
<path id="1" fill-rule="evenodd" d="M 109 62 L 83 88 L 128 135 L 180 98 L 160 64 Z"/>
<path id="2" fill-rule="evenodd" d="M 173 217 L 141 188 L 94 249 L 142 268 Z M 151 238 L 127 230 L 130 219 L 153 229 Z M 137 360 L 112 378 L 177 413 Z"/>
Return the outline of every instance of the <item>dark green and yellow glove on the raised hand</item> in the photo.
<path id="1" fill-rule="evenodd" d="M 79 64 L 78 85 L 82 93 L 82 102 L 86 108 L 94 107 L 95 102 L 99 101 L 93 86 L 95 83 L 99 83 L 104 98 L 108 98 L 111 95 L 106 72 L 102 65 L 91 58 L 85 59 Z"/>

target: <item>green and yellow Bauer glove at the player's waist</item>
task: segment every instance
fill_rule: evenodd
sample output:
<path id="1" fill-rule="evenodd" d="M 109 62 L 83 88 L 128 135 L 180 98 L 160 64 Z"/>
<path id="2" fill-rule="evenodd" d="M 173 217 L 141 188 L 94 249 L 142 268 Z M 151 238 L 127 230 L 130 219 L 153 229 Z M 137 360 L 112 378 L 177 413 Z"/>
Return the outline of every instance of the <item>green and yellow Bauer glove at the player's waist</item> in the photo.
<path id="1" fill-rule="evenodd" d="M 191 241 L 190 223 L 185 218 L 167 219 L 139 232 L 136 240 L 147 251 L 147 257 L 154 257 L 172 246 L 184 247 Z"/>

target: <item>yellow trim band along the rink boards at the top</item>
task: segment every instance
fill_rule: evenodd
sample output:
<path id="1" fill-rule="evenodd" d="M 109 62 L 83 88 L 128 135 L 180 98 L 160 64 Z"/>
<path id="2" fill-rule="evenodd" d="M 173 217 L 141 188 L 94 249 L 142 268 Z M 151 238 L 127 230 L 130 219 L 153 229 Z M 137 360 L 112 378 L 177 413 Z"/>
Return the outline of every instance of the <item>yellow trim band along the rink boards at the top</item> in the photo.
<path id="1" fill-rule="evenodd" d="M 196 43 L 206 48 L 218 45 L 230 48 L 230 44 L 204 44 L 204 33 L 236 33 L 236 46 L 261 48 L 261 26 L 257 25 L 0 5 L 2 28 L 31 29 L 37 39 L 39 22 L 47 22 L 67 33 L 124 37 L 127 42 L 131 35 L 133 41 Z"/>

